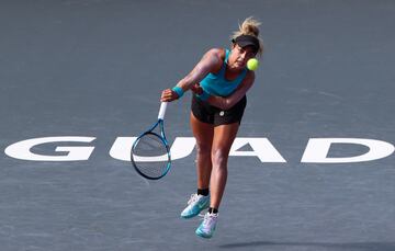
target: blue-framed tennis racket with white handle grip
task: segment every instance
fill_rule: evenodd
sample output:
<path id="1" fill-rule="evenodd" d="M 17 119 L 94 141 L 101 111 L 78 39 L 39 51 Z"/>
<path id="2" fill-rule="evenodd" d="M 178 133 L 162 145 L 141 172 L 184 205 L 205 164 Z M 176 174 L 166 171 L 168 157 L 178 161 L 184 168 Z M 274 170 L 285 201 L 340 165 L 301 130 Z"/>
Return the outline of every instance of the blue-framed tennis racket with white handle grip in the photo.
<path id="1" fill-rule="evenodd" d="M 163 118 L 167 102 L 161 102 L 158 121 L 132 146 L 131 160 L 137 173 L 149 180 L 165 176 L 171 167 L 170 147 L 166 139 Z M 154 130 L 159 128 L 159 134 Z"/>

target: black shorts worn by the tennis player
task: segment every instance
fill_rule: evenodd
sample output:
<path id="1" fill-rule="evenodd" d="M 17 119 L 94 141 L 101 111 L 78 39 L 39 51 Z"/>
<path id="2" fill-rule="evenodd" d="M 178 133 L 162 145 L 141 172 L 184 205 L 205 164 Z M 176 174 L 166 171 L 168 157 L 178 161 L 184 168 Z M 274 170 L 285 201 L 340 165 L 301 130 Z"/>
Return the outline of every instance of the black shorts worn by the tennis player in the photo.
<path id="1" fill-rule="evenodd" d="M 200 122 L 218 126 L 233 123 L 240 124 L 246 105 L 246 95 L 229 110 L 221 110 L 192 95 L 191 110 Z"/>

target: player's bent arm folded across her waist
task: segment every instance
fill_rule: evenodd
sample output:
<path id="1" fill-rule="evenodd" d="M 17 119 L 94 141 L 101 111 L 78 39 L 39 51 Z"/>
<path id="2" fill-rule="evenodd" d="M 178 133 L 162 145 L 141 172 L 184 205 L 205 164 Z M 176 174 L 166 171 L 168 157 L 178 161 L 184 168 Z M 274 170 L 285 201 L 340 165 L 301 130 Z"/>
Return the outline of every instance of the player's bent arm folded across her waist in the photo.
<path id="1" fill-rule="evenodd" d="M 211 105 L 219 107 L 222 110 L 229 110 L 235 104 L 237 104 L 237 102 L 239 102 L 242 99 L 242 96 L 246 95 L 247 91 L 252 87 L 253 81 L 255 81 L 255 72 L 250 70 L 247 72 L 246 78 L 242 80 L 240 85 L 230 95 L 225 98 L 212 95 L 207 99 L 207 102 Z"/>

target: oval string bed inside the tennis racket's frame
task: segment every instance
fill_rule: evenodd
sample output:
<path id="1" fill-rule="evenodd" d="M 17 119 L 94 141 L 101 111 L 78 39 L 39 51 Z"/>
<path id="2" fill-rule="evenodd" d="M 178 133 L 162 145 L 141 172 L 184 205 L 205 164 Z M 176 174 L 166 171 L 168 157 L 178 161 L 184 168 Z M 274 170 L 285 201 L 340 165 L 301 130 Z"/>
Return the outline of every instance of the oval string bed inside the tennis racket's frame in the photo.
<path id="1" fill-rule="evenodd" d="M 160 178 L 168 170 L 170 156 L 163 140 L 155 134 L 144 135 L 133 148 L 135 168 L 149 178 Z"/>

